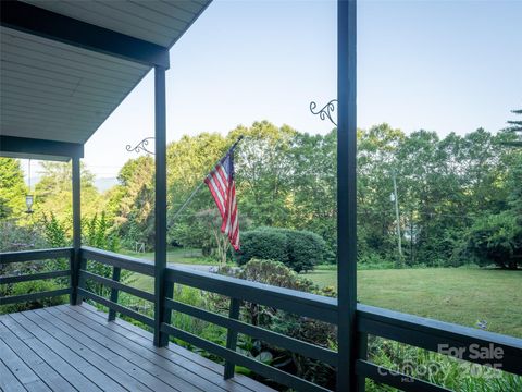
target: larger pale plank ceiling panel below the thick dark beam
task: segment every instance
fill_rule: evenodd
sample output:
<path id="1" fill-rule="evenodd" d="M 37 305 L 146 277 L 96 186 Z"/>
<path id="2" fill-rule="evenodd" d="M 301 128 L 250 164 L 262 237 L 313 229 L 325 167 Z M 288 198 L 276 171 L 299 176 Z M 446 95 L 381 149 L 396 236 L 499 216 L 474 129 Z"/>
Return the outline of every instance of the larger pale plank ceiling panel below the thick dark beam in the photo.
<path id="1" fill-rule="evenodd" d="M 150 70 L 5 27 L 0 35 L 2 135 L 85 143 Z"/>

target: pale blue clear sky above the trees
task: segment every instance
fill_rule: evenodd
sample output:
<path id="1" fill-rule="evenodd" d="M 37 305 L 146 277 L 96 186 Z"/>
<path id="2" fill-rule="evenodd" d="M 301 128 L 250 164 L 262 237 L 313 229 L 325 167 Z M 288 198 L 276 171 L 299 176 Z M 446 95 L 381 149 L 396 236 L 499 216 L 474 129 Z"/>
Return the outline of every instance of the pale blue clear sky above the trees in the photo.
<path id="1" fill-rule="evenodd" d="M 497 132 L 522 107 L 522 0 L 359 1 L 358 126 L 387 122 Z M 171 50 L 167 140 L 269 120 L 332 124 L 310 101 L 336 97 L 335 1 L 214 0 Z M 127 144 L 153 136 L 153 74 L 88 140 L 85 163 L 114 177 Z"/>

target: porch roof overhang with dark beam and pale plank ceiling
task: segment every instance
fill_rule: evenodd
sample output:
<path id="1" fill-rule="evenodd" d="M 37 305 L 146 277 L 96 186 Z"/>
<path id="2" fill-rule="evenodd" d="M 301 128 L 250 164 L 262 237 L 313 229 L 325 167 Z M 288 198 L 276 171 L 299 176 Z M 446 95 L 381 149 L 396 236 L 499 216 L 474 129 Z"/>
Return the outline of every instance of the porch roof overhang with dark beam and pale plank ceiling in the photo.
<path id="1" fill-rule="evenodd" d="M 0 135 L 85 144 L 209 3 L 1 1 Z"/>

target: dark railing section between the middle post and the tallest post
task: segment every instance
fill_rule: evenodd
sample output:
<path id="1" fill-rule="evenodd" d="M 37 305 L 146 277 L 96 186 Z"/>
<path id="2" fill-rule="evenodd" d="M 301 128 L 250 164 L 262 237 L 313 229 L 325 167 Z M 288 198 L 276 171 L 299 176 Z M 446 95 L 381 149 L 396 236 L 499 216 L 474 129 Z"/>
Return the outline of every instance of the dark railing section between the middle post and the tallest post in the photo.
<path id="1" fill-rule="evenodd" d="M 167 323 L 162 323 L 162 332 L 223 357 L 226 360 L 225 368 L 233 369 L 234 365 L 239 365 L 299 391 L 327 391 L 327 389 L 295 375 L 237 353 L 235 351 L 237 333 L 260 339 L 263 342 L 321 360 L 334 367 L 337 366 L 337 352 L 243 322 L 238 320 L 239 309 L 233 311 L 233 306 L 234 302 L 239 306 L 240 302 L 246 301 L 334 324 L 337 322 L 337 301 L 335 298 L 183 267 L 169 267 L 165 280 L 171 284 L 187 285 L 232 298 L 229 315 L 233 315 L 233 317 L 217 315 L 167 297 L 165 298 L 165 306 L 169 309 L 224 327 L 228 330 L 228 335 L 226 347 L 224 347 Z M 232 377 L 225 370 L 225 378 L 227 376 Z"/>

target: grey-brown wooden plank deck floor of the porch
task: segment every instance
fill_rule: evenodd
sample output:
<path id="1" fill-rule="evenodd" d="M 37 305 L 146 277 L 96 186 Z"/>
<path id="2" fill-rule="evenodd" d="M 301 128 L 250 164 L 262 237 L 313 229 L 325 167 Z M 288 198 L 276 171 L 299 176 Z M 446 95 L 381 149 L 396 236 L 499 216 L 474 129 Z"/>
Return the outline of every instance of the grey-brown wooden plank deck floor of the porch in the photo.
<path id="1" fill-rule="evenodd" d="M 0 390 L 273 391 L 85 304 L 0 316 Z"/>

